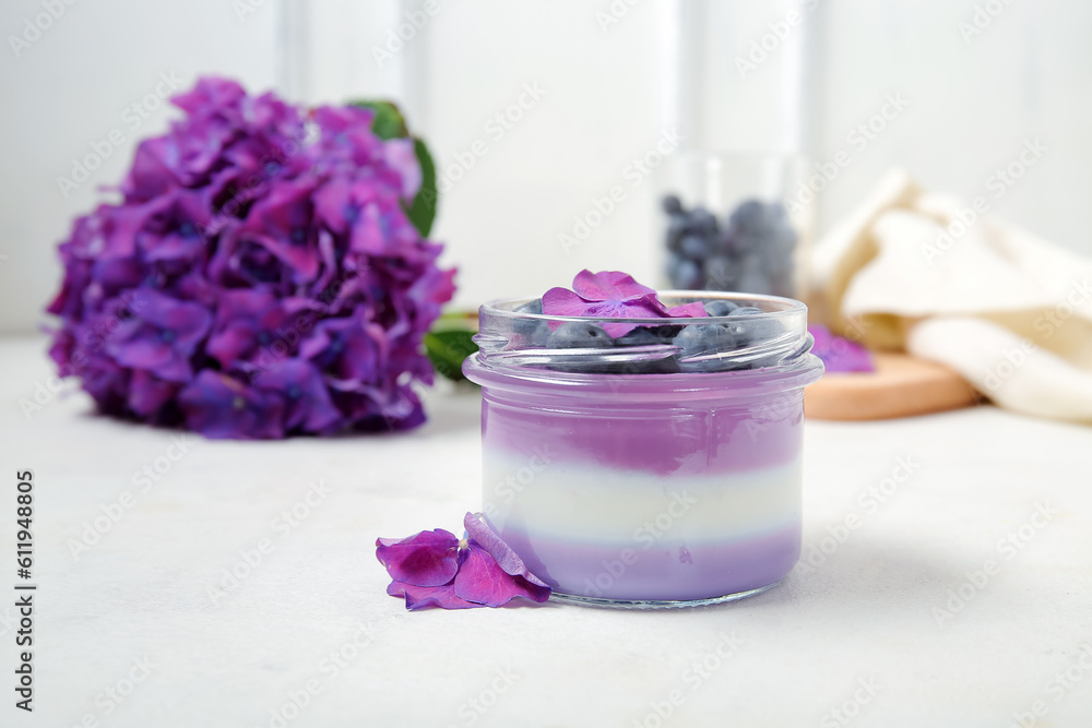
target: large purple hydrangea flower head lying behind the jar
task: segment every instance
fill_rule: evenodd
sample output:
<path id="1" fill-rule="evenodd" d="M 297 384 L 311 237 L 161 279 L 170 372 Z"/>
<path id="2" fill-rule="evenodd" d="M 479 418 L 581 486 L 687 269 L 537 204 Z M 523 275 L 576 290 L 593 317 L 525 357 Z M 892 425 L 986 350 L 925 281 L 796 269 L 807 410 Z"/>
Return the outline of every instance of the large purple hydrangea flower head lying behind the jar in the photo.
<path id="1" fill-rule="evenodd" d="M 60 246 L 50 356 L 100 411 L 210 438 L 424 421 L 422 339 L 454 290 L 405 213 L 411 140 L 201 79 L 139 145 L 121 201 Z"/>

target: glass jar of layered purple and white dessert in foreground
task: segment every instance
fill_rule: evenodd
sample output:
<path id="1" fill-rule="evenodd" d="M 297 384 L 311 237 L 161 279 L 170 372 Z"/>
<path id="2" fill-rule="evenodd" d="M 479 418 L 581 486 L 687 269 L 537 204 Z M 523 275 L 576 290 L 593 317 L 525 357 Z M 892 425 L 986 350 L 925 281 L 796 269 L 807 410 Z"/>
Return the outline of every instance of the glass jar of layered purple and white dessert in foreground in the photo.
<path id="1" fill-rule="evenodd" d="M 509 300 L 479 311 L 480 350 L 463 370 L 482 385 L 483 513 L 559 599 L 725 601 L 769 588 L 799 556 L 803 387 L 822 373 L 807 308 L 773 296 L 660 299 L 750 310 L 575 319 Z M 550 332 L 574 322 L 639 333 L 550 346 Z"/>

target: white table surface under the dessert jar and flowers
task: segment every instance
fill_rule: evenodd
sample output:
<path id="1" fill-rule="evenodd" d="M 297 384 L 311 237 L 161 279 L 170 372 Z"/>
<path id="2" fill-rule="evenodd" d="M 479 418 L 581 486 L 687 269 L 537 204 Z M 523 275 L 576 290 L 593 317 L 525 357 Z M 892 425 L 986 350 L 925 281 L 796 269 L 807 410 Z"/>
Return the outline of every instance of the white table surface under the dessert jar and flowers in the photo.
<path id="1" fill-rule="evenodd" d="M 1022 713 L 1031 725 L 1036 708 L 1037 726 L 1092 725 L 1092 429 L 993 407 L 809 420 L 805 553 L 859 517 L 817 569 L 691 610 L 408 613 L 385 595 L 373 544 L 458 530 L 476 510 L 475 392 L 431 394 L 428 425 L 410 434 L 191 437 L 141 492 L 133 474 L 178 434 L 92 417 L 81 393 L 25 416 L 20 399 L 48 386 L 44 349 L 0 344 L 0 726 L 1004 728 Z M 899 458 L 913 474 L 869 512 L 862 493 Z M 4 596 L 24 468 L 36 481 L 33 715 L 13 707 L 14 598 Z M 312 481 L 329 494 L 312 496 L 295 527 L 274 522 Z M 75 558 L 71 545 L 126 491 L 131 508 Z M 1052 515 L 1036 528 L 1040 505 Z M 1021 527 L 1026 544 L 999 548 Z M 211 596 L 262 539 L 272 550 L 261 563 Z M 949 590 L 990 560 L 985 585 L 964 586 L 966 605 L 938 623 Z M 145 659 L 143 677 L 133 665 Z M 117 703 L 108 689 L 129 695 L 115 692 Z M 654 704 L 666 712 L 673 696 L 660 718 Z"/>

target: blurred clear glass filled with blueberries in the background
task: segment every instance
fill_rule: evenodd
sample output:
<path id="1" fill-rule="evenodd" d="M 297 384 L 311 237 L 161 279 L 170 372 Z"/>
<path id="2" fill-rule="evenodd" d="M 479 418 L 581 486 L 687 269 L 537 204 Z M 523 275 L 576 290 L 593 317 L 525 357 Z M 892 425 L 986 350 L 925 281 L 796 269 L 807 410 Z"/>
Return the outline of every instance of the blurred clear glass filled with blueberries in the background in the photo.
<path id="1" fill-rule="evenodd" d="M 664 279 L 680 289 L 807 300 L 811 206 L 790 154 L 682 152 L 661 178 Z"/>

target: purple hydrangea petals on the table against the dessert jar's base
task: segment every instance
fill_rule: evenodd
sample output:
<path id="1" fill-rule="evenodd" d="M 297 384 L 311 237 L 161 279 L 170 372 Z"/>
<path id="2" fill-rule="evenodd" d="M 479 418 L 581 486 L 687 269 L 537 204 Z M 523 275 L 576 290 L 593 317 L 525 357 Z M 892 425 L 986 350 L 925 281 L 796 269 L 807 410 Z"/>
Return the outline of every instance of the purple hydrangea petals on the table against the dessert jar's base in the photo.
<path id="1" fill-rule="evenodd" d="M 393 580 L 387 593 L 406 609 L 501 607 L 515 598 L 546 601 L 550 588 L 532 574 L 482 518 L 463 518 L 466 538 L 442 528 L 408 538 L 380 538 L 376 557 Z"/>

